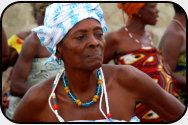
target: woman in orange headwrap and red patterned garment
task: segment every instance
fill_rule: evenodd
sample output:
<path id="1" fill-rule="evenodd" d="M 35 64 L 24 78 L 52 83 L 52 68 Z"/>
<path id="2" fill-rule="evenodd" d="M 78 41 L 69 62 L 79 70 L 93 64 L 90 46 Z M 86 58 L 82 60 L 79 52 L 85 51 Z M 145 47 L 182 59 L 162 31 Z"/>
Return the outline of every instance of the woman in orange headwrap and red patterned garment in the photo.
<path id="1" fill-rule="evenodd" d="M 162 59 L 161 53 L 153 45 L 152 32 L 146 25 L 157 23 L 156 3 L 119 3 L 128 21 L 118 31 L 106 35 L 104 63 L 114 59 L 118 65 L 132 65 L 149 75 L 165 91 L 177 95 L 171 71 Z M 148 91 L 148 89 L 147 89 Z M 138 103 L 136 116 L 142 122 L 162 122 L 163 119 L 150 108 Z"/>

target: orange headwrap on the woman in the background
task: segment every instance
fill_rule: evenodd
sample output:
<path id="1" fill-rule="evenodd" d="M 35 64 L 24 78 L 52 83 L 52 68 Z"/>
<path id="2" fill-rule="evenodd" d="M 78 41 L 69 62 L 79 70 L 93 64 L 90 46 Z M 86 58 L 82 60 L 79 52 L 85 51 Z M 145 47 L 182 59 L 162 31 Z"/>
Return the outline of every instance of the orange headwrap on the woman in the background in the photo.
<path id="1" fill-rule="evenodd" d="M 134 14 L 138 14 L 140 9 L 144 7 L 145 3 L 118 3 L 119 9 L 122 9 L 128 16 L 128 21 L 132 19 Z"/>

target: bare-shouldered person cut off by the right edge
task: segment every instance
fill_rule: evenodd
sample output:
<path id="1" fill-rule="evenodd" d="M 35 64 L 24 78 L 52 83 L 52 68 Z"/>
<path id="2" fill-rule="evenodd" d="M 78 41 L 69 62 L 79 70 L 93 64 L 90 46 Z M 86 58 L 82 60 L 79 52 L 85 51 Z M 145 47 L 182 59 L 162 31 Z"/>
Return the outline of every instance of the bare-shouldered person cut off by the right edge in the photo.
<path id="1" fill-rule="evenodd" d="M 183 8 L 173 4 L 174 18 L 161 38 L 159 49 L 173 71 L 177 82 L 180 100 L 187 105 L 186 92 L 186 15 Z"/>

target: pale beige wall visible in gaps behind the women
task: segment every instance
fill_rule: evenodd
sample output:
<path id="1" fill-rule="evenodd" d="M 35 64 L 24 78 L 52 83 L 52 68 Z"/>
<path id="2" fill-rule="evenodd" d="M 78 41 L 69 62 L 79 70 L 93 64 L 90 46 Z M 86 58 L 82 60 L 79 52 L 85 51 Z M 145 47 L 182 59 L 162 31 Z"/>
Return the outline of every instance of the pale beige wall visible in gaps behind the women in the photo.
<path id="1" fill-rule="evenodd" d="M 108 32 L 117 30 L 123 24 L 122 12 L 117 8 L 117 3 L 100 3 L 104 18 L 108 27 Z M 171 3 L 158 3 L 159 18 L 155 26 L 148 26 L 154 33 L 153 42 L 158 46 L 158 42 L 166 27 L 170 23 L 174 15 L 174 10 Z M 33 8 L 30 3 L 16 3 L 9 6 L 2 15 L 2 26 L 5 29 L 7 39 L 21 31 L 28 31 L 37 26 L 33 17 Z M 125 16 L 125 18 L 127 18 Z M 8 71 L 3 73 L 2 83 L 7 78 Z"/>

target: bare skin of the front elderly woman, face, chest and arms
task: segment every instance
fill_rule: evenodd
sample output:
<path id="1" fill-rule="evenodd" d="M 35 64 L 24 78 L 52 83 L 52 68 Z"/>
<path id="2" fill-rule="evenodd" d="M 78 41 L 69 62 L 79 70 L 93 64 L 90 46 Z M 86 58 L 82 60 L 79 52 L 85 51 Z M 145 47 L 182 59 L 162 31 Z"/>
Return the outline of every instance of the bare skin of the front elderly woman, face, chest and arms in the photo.
<path id="1" fill-rule="evenodd" d="M 136 102 L 141 101 L 167 121 L 177 120 L 185 107 L 145 73 L 132 66 L 102 65 L 105 40 L 101 33 L 98 21 L 85 19 L 58 44 L 56 56 L 64 61 L 68 84 L 75 96 L 81 101 L 91 99 L 96 90 L 96 69 L 102 66 L 113 119 L 129 121 L 134 116 Z M 48 105 L 53 81 L 51 78 L 37 84 L 26 93 L 14 113 L 15 122 L 58 122 Z M 56 98 L 58 112 L 65 121 L 104 119 L 99 101 L 89 107 L 78 107 L 63 89 L 60 79 Z M 106 112 L 104 98 L 102 103 Z"/>

